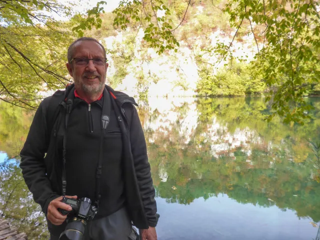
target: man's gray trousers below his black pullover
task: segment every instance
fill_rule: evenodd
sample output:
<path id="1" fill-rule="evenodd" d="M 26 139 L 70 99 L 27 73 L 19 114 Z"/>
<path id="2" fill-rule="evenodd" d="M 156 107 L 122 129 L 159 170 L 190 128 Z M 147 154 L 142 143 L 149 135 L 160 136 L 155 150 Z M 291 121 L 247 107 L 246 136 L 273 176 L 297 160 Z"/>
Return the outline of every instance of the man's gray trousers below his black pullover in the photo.
<path id="1" fill-rule="evenodd" d="M 59 236 L 50 236 L 50 240 L 58 240 Z M 86 225 L 82 240 L 135 240 L 131 220 L 126 208 L 123 207 L 116 212 L 93 219 Z"/>

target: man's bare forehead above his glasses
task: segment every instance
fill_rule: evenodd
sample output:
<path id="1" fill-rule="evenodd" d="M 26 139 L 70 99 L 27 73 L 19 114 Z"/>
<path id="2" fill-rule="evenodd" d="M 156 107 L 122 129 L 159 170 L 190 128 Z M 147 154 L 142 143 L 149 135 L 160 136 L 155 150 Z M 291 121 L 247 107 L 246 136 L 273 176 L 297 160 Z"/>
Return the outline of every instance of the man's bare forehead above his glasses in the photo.
<path id="1" fill-rule="evenodd" d="M 73 46 L 73 57 L 105 57 L 102 47 L 95 41 L 79 41 Z"/>

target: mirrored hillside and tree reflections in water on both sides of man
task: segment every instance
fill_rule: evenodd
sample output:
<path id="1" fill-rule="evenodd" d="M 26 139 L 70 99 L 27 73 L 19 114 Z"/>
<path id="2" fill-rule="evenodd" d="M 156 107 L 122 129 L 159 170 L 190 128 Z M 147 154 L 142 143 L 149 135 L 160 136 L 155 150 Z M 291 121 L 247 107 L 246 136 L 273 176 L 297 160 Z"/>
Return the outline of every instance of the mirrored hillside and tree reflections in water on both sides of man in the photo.
<path id="1" fill-rule="evenodd" d="M 156 196 L 190 204 L 223 193 L 320 221 L 320 169 L 308 143 L 319 140 L 320 99 L 309 100 L 315 110 L 304 126 L 267 123 L 259 98 L 139 101 Z M 19 153 L 33 114 L 0 103 L 0 151 L 9 158 Z M 47 237 L 17 163 L 1 164 L 0 214 L 29 238 Z"/>

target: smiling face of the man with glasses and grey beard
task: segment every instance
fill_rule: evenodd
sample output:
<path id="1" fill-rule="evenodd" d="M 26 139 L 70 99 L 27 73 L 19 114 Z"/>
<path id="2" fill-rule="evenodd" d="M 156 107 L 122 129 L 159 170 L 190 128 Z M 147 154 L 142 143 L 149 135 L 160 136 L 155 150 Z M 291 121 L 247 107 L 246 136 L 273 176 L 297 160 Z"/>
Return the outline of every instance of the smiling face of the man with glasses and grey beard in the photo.
<path id="1" fill-rule="evenodd" d="M 101 46 L 94 41 L 79 41 L 73 46 L 73 58 L 105 57 Z M 75 60 L 66 63 L 70 75 L 73 77 L 75 88 L 88 95 L 100 93 L 104 87 L 108 63 L 96 65 L 92 60 L 88 64 L 78 65 Z"/>

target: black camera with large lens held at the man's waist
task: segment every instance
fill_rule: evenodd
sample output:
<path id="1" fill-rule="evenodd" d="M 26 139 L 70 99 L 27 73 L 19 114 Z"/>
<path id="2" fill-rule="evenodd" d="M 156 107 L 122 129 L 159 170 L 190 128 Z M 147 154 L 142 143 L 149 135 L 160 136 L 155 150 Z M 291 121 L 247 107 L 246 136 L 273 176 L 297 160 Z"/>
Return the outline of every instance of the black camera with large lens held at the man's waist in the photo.
<path id="1" fill-rule="evenodd" d="M 68 204 L 72 210 L 58 208 L 62 215 L 69 214 L 65 230 L 60 234 L 59 240 L 81 240 L 88 220 L 92 219 L 97 208 L 91 204 L 87 197 L 80 199 L 63 197 L 61 202 Z"/>

